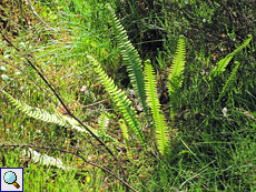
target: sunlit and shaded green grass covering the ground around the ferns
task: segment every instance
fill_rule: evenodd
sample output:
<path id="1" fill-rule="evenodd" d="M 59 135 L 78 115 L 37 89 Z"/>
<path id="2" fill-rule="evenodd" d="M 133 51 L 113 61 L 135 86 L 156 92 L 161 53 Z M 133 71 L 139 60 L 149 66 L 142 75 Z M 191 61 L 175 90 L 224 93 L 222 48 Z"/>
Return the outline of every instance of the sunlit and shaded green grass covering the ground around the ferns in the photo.
<path id="1" fill-rule="evenodd" d="M 193 39 L 189 34 L 190 37 L 186 38 L 187 62 L 184 85 L 177 100 L 179 110 L 174 128 L 179 131 L 179 134 L 169 145 L 171 152 L 166 158 L 160 155 L 155 144 L 155 137 L 149 134 L 147 120 L 141 112 L 138 118 L 144 127 L 149 150 L 142 150 L 136 139 L 130 139 L 130 159 L 124 144 L 121 129 L 117 123 L 119 114 L 114 110 L 114 104 L 107 101 L 82 108 L 108 100 L 105 89 L 98 84 L 95 72 L 89 68 L 87 52 L 99 61 L 120 89 L 125 91 L 130 89 L 129 78 L 117 49 L 114 31 L 109 26 L 110 17 L 108 10 L 105 9 L 105 3 L 100 0 L 97 2 L 90 0 L 86 2 L 59 0 L 58 3 L 47 0 L 41 3 L 33 2 L 41 19 L 57 29 L 58 33 L 47 30 L 47 27 L 36 20 L 29 8 L 24 7 L 23 12 L 27 12 L 31 19 L 31 28 L 23 29 L 17 22 L 19 36 L 13 38 L 13 34 L 6 34 L 20 51 L 8 46 L 3 39 L 0 41 L 3 53 L 0 57 L 1 89 L 31 107 L 49 112 L 61 111 L 59 101 L 47 84 L 33 69 L 28 67 L 24 53 L 31 53 L 43 75 L 55 85 L 65 103 L 82 122 L 98 130 L 101 128 L 100 115 L 102 113 L 109 115 L 109 122 L 102 131 L 120 143 L 117 145 L 107 141 L 106 143 L 121 162 L 128 184 L 137 191 L 255 191 L 256 92 L 253 57 L 255 40 L 248 49 L 234 58 L 234 61 L 242 63 L 237 80 L 221 101 L 215 102 L 234 68 L 234 61 L 228 64 L 224 74 L 217 77 L 213 84 L 208 84 L 209 72 L 215 68 L 215 59 L 209 50 L 216 51 L 217 47 L 223 46 L 227 54 L 232 52 L 232 48 L 228 50 L 226 40 L 223 40 L 223 43 L 208 43 L 208 47 L 201 43 L 204 46 L 199 47 L 200 38 L 195 36 Z M 146 10 L 132 8 L 132 6 L 130 8 L 135 10 L 129 10 L 127 4 L 124 6 L 125 8 L 118 7 L 115 1 L 109 1 L 109 3 L 117 10 L 122 9 L 120 16 L 127 14 L 127 19 L 121 22 L 127 27 L 128 34 L 136 33 L 139 37 L 137 39 L 138 37 L 130 36 L 134 37 L 131 39 L 135 44 L 138 43 L 137 49 L 141 59 L 149 58 L 154 61 L 161 90 L 161 108 L 165 109 L 168 107 L 168 101 L 164 100 L 165 97 L 168 98 L 165 89 L 166 73 L 175 53 L 178 36 L 193 27 L 189 26 L 188 19 L 181 18 L 177 12 L 170 16 L 168 4 L 166 4 L 163 14 L 151 13 L 148 17 L 156 19 L 155 26 L 165 27 L 165 30 L 168 29 L 173 33 L 165 34 L 167 38 L 163 43 L 163 50 L 145 50 L 141 44 L 148 41 L 147 37 L 150 39 L 150 30 L 142 27 L 131 30 L 129 24 L 139 26 L 140 19 L 146 18 L 144 12 Z M 20 11 L 19 7 L 14 8 L 17 12 Z M 214 16 L 215 11 L 210 11 L 210 16 Z M 203 14 L 203 17 L 206 16 Z M 193 22 L 200 22 L 199 20 Z M 203 27 L 198 24 L 199 28 Z M 204 33 L 200 36 L 201 39 L 207 37 Z M 226 36 L 236 37 L 235 30 L 227 31 Z M 224 117 L 221 112 L 224 108 L 227 108 L 227 117 Z M 73 133 L 65 128 L 26 117 L 3 95 L 1 95 L 0 109 L 0 114 L 2 114 L 0 166 L 24 168 L 24 191 L 125 191 L 125 186 L 117 178 L 93 164 L 86 163 L 81 158 L 119 174 L 117 162 L 92 137 Z M 165 111 L 165 115 L 169 123 L 168 110 Z M 76 134 L 76 138 L 70 134 Z M 76 140 L 73 145 L 70 138 Z M 50 149 L 42 146 L 50 146 Z M 66 169 L 56 164 L 43 164 L 31 159 L 30 155 L 22 154 L 23 150 L 29 148 L 37 149 L 41 154 L 60 159 Z M 53 148 L 59 150 L 53 150 Z"/>

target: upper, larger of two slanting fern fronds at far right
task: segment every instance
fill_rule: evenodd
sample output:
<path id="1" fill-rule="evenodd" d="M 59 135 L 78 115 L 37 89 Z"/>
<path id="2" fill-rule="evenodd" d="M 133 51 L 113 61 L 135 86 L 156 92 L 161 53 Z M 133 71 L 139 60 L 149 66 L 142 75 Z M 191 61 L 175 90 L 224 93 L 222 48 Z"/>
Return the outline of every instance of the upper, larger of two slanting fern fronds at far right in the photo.
<path id="1" fill-rule="evenodd" d="M 253 36 L 248 36 L 249 38 L 247 40 L 245 40 L 245 42 L 239 46 L 235 51 L 233 51 L 232 53 L 229 53 L 228 55 L 226 55 L 224 59 L 221 59 L 218 63 L 216 69 L 213 70 L 211 72 L 211 77 L 216 77 L 219 75 L 220 73 L 223 73 L 225 71 L 225 68 L 227 67 L 227 64 L 229 63 L 229 61 L 232 60 L 232 58 L 239 52 L 242 49 L 244 49 L 245 47 L 247 47 L 250 42 L 250 40 L 253 39 Z M 211 80 L 211 77 L 209 80 Z"/>

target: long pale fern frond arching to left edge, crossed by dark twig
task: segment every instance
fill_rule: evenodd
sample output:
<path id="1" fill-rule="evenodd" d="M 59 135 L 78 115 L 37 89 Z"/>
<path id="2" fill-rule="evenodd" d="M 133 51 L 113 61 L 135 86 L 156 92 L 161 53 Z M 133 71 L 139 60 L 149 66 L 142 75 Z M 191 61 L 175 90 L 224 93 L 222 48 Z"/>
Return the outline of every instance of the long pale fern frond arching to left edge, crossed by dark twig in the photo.
<path id="1" fill-rule="evenodd" d="M 70 128 L 73 130 L 77 130 L 79 132 L 85 132 L 87 133 L 87 131 L 85 129 L 82 129 L 81 127 L 79 127 L 79 123 L 66 115 L 62 115 L 61 113 L 49 113 L 46 110 L 42 109 L 38 109 L 38 108 L 31 108 L 30 105 L 16 100 L 12 95 L 10 95 L 9 93 L 7 93 L 6 91 L 1 90 L 0 91 L 9 99 L 9 101 L 12 103 L 13 107 L 16 107 L 18 110 L 22 111 L 23 113 L 26 113 L 28 117 L 37 119 L 37 120 L 41 120 L 48 123 L 55 123 L 58 124 L 60 127 L 65 127 L 65 128 Z M 99 135 L 100 133 L 93 129 L 90 129 L 96 135 Z M 118 143 L 118 141 L 109 135 L 105 135 L 105 139 L 108 141 L 112 141 L 115 143 Z"/>

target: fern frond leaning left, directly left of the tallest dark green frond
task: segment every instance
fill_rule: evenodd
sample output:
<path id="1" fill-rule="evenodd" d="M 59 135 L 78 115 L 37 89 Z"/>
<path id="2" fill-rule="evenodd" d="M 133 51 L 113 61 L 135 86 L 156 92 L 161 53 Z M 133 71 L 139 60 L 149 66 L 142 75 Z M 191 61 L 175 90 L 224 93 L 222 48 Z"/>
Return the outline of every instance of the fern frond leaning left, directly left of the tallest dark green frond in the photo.
<path id="1" fill-rule="evenodd" d="M 116 109 L 122 113 L 128 127 L 136 133 L 139 141 L 146 149 L 147 145 L 141 131 L 141 125 L 135 115 L 135 109 L 129 107 L 131 102 L 127 99 L 127 95 L 125 95 L 121 90 L 118 90 L 111 78 L 108 78 L 108 75 L 104 72 L 100 64 L 92 57 L 87 55 L 87 58 L 92 63 L 95 72 L 98 73 L 99 81 L 106 87 L 106 91 L 109 93 L 110 99 L 116 104 Z"/>

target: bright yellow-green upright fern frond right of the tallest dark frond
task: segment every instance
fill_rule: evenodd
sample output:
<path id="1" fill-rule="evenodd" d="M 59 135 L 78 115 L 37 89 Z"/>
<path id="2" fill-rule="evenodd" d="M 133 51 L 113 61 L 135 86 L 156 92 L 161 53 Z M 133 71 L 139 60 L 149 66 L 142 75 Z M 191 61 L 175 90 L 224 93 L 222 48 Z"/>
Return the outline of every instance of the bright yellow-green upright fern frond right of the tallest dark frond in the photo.
<path id="1" fill-rule="evenodd" d="M 168 137 L 167 137 L 167 127 L 166 120 L 160 111 L 160 103 L 157 95 L 157 82 L 154 74 L 150 60 L 145 62 L 145 89 L 148 97 L 148 105 L 151 108 L 152 118 L 156 124 L 156 139 L 157 145 L 161 154 L 165 154 Z"/>

